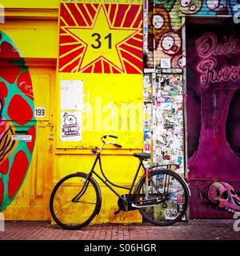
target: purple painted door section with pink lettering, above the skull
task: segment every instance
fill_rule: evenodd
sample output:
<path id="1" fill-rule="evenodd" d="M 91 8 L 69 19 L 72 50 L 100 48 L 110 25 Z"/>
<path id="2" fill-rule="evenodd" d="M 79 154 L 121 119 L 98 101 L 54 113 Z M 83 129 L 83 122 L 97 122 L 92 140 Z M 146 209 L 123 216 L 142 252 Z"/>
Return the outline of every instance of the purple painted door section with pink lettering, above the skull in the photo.
<path id="1" fill-rule="evenodd" d="M 188 130 L 192 133 L 189 140 L 197 139 L 198 134 L 198 142 L 194 143 L 197 147 L 191 150 L 188 160 L 189 178 L 240 180 L 240 158 L 226 140 L 230 102 L 240 88 L 239 31 L 234 28 L 218 30 L 213 26 L 208 33 L 202 28 L 190 36 L 187 42 L 187 93 L 190 102 L 199 98 L 201 105 L 196 109 L 188 104 L 187 109 Z M 201 118 L 199 131 L 194 129 L 192 110 L 199 111 L 194 113 Z"/>

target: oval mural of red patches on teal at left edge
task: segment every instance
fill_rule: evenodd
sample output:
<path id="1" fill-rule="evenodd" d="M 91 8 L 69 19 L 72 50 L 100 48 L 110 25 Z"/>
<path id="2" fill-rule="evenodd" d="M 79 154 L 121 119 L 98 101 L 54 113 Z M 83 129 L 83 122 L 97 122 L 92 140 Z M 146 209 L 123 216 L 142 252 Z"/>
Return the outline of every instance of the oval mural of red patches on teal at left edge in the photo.
<path id="1" fill-rule="evenodd" d="M 0 211 L 18 194 L 34 150 L 36 127 L 30 73 L 0 31 Z"/>

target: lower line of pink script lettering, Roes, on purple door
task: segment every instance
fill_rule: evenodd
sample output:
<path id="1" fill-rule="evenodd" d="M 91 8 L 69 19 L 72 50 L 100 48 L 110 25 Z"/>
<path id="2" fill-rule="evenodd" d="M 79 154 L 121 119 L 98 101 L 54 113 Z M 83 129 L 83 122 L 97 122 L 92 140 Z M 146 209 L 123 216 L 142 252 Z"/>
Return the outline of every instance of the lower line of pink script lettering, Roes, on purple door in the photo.
<path id="1" fill-rule="evenodd" d="M 222 82 L 240 79 L 240 66 L 223 66 L 216 68 L 217 62 L 214 58 L 208 58 L 198 64 L 198 72 L 200 82 L 206 84 L 208 82 Z"/>

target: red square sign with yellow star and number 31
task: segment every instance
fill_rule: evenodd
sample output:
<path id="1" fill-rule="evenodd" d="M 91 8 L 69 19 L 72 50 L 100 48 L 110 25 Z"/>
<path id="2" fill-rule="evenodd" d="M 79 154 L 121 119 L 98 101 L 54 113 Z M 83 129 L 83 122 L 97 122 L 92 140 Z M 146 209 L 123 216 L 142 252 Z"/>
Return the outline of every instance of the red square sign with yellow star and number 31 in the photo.
<path id="1" fill-rule="evenodd" d="M 142 74 L 142 5 L 62 2 L 59 72 Z"/>

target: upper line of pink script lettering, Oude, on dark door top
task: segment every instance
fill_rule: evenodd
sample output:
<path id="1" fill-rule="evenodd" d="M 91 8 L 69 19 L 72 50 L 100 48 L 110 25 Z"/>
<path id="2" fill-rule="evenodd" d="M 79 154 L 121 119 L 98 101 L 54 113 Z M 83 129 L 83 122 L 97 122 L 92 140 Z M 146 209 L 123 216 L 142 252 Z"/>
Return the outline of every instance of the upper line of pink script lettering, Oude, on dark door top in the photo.
<path id="1" fill-rule="evenodd" d="M 227 39 L 226 39 L 227 40 Z M 218 39 L 213 33 L 205 33 L 196 41 L 198 54 L 202 58 L 210 55 L 236 54 L 240 52 L 240 42 L 238 39 L 229 38 L 227 42 L 218 43 Z"/>

